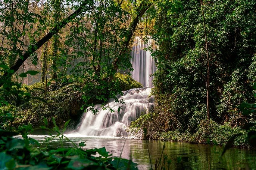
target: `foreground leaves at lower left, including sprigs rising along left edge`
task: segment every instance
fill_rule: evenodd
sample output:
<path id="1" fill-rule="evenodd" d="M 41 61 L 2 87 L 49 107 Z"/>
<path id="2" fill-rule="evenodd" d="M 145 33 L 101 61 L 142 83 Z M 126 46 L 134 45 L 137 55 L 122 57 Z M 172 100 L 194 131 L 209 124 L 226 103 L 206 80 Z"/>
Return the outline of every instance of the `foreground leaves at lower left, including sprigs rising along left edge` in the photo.
<path id="1" fill-rule="evenodd" d="M 37 85 L 40 86 L 40 84 L 42 83 L 38 83 Z M 67 86 L 69 85 L 72 86 L 74 84 L 71 83 Z M 26 91 L 31 90 L 28 87 L 24 87 L 24 89 Z M 55 85 L 53 89 L 52 92 L 55 92 L 56 89 L 64 91 L 64 89 L 58 87 L 58 85 Z M 32 90 L 35 90 L 35 88 Z M 19 105 L 19 100 L 24 96 L 33 99 L 30 93 L 24 93 L 21 84 L 11 81 L 5 82 L 1 88 L 1 94 L 4 93 L 14 94 L 17 97 L 16 105 L 19 107 L 22 106 L 22 104 Z M 55 95 L 50 95 L 49 97 L 55 97 Z M 61 97 L 67 97 L 67 95 Z M 37 100 L 38 99 L 40 98 L 38 97 Z M 41 100 L 44 101 L 43 99 Z M 42 104 L 43 103 L 40 103 L 36 107 L 40 107 Z M 47 103 L 44 104 L 46 105 Z M 45 148 L 39 149 L 39 142 L 27 136 L 33 133 L 33 128 L 30 124 L 18 126 L 15 132 L 13 131 L 12 123 L 15 122 L 17 118 L 17 106 L 8 105 L 8 102 L 4 100 L 1 100 L 1 106 L 0 156 L 2 160 L 0 162 L 0 169 L 137 169 L 137 165 L 131 160 L 110 157 L 111 155 L 106 151 L 105 147 L 83 150 L 85 142 L 81 142 L 79 147 L 73 144 L 73 148 L 63 148 L 63 140 L 68 140 L 72 143 L 72 141 L 63 135 L 70 121 L 65 122 L 64 127 L 60 130 L 54 117 L 51 119 L 53 124 L 52 129 L 48 128 L 49 122 L 45 117 L 43 118 L 45 126 L 40 126 L 40 128 L 49 131 L 50 135 L 55 134 L 46 137 L 46 142 L 58 138 L 61 147 L 51 148 L 46 146 Z M 5 110 L 3 110 L 3 108 Z M 8 124 L 8 122 L 11 123 Z M 6 127 L 6 125 L 9 126 Z M 5 130 L 7 128 L 9 130 Z M 15 136 L 18 134 L 21 134 L 22 138 Z M 95 156 L 96 153 L 98 153 L 99 156 Z"/>

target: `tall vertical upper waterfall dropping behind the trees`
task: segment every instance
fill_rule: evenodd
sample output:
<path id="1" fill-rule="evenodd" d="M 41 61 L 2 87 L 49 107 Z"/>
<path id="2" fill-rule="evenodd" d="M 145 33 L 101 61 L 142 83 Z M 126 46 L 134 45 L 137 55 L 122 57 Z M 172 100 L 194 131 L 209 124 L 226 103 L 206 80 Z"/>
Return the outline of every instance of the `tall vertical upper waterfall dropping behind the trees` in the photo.
<path id="1" fill-rule="evenodd" d="M 148 36 L 148 43 L 146 44 L 144 44 L 142 37 L 135 37 L 133 44 L 131 64 L 134 70 L 131 72 L 132 77 L 144 87 L 152 87 L 153 77 L 150 75 L 156 71 L 155 61 L 151 57 L 151 53 L 144 50 L 153 45 L 152 37 Z"/>

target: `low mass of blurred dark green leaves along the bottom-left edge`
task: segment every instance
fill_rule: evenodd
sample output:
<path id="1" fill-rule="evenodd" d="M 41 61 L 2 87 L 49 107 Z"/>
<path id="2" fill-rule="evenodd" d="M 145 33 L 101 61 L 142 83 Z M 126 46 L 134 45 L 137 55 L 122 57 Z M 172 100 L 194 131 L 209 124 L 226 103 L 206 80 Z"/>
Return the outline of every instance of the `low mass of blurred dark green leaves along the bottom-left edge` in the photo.
<path id="1" fill-rule="evenodd" d="M 2 134 L 8 134 L 3 133 Z M 7 131 L 6 131 L 7 132 Z M 110 157 L 106 148 L 83 150 L 71 148 L 37 148 L 35 139 L 1 136 L 0 169 L 131 169 L 137 170 L 131 160 Z"/>

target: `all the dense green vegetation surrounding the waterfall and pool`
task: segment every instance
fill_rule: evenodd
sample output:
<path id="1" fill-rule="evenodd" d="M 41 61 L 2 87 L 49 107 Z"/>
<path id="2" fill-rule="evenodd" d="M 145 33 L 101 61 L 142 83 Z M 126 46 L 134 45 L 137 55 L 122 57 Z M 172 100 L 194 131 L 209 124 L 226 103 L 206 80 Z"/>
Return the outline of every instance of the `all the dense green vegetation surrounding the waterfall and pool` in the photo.
<path id="1" fill-rule="evenodd" d="M 146 139 L 252 145 L 255 11 L 254 0 L 2 0 L 0 168 L 136 168 L 108 158 L 105 148 L 83 151 L 84 143 L 39 150 L 27 134 L 40 127 L 63 140 L 86 108 L 96 114 L 96 103 L 122 103 L 117 94 L 142 87 L 130 77 L 138 35 L 157 44 L 148 47 L 157 65 L 156 106 L 131 131 L 144 130 Z M 23 139 L 12 137 L 18 133 Z"/>

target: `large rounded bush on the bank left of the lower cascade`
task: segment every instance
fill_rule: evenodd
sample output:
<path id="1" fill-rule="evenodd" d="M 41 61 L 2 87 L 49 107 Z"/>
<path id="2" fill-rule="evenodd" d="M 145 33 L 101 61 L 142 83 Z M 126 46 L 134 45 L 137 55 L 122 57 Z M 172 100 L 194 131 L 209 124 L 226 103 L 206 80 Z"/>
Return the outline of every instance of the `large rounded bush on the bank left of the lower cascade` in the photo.
<path id="1" fill-rule="evenodd" d="M 53 81 L 51 85 L 48 85 L 45 93 L 45 85 L 41 82 L 30 86 L 23 85 L 20 91 L 27 91 L 27 93 L 22 93 L 18 104 L 15 101 L 17 100 L 16 97 L 14 101 L 8 101 L 13 105 L 2 106 L 1 111 L 4 114 L 10 113 L 12 115 L 16 112 L 13 121 L 16 128 L 22 124 L 39 127 L 43 124 L 43 117 L 49 121 L 49 127 L 53 126 L 50 121 L 52 117 L 55 118 L 58 126 L 63 127 L 66 121 L 71 118 L 76 119 L 82 113 L 80 107 L 83 105 L 83 100 L 81 98 L 82 93 L 79 91 L 81 86 L 82 83 L 78 82 L 64 85 Z M 24 100 L 26 95 L 29 96 L 29 100 Z M 16 109 L 13 109 L 14 107 Z M 10 123 L 10 121 L 8 122 Z"/>

